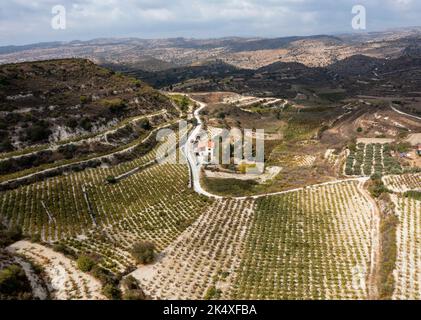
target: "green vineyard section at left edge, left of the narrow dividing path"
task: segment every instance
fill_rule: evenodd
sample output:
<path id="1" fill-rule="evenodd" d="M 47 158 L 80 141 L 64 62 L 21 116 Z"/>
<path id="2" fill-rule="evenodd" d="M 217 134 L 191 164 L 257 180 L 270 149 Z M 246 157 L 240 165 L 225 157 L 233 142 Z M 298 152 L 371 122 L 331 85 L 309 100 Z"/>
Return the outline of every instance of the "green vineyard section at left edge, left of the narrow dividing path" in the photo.
<path id="1" fill-rule="evenodd" d="M 104 188 L 108 176 L 118 176 L 156 157 L 156 151 L 110 168 L 87 169 L 0 193 L 0 215 L 25 233 L 46 241 L 86 233 L 93 226 L 84 190 Z M 117 187 L 117 186 L 116 186 Z M 88 191 L 88 192 L 89 192 Z M 107 223 L 98 217 L 98 222 Z"/>

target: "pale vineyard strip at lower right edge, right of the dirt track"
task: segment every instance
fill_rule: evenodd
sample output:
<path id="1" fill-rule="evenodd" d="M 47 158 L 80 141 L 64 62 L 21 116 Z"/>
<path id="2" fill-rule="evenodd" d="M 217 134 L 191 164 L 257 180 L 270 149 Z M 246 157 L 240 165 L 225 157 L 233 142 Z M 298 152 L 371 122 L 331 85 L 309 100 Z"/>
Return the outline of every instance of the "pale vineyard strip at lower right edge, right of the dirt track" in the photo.
<path id="1" fill-rule="evenodd" d="M 393 299 L 421 299 L 421 202 L 394 197 L 399 216 Z"/>

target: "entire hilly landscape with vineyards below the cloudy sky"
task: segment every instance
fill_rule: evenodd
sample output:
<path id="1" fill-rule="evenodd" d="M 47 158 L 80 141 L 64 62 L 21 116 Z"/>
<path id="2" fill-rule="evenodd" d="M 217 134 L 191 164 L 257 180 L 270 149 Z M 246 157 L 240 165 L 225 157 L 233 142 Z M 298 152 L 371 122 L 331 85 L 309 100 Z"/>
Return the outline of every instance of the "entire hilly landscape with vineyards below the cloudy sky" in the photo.
<path id="1" fill-rule="evenodd" d="M 0 298 L 420 299 L 417 37 L 0 48 Z"/>

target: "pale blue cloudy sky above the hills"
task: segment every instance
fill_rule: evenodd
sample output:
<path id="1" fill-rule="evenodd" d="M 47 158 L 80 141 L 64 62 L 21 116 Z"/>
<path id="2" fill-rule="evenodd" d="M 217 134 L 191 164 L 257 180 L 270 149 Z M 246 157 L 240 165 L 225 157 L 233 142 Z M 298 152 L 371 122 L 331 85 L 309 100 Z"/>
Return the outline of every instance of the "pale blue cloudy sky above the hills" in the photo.
<path id="1" fill-rule="evenodd" d="M 100 37 L 281 37 L 353 32 L 364 5 L 367 31 L 421 25 L 419 0 L 1 0 L 0 45 Z M 51 27 L 66 9 L 66 29 Z"/>

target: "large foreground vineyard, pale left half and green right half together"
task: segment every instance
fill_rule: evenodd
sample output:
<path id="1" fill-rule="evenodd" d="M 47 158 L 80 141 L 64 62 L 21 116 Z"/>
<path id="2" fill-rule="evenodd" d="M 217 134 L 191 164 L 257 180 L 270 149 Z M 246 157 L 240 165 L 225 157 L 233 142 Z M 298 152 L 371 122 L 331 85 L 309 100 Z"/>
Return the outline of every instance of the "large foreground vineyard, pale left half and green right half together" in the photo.
<path id="1" fill-rule="evenodd" d="M 218 200 L 132 275 L 162 299 L 364 299 L 374 214 L 358 182 Z"/>

